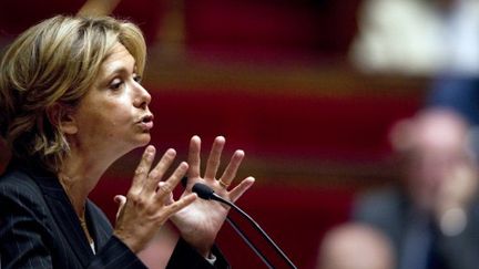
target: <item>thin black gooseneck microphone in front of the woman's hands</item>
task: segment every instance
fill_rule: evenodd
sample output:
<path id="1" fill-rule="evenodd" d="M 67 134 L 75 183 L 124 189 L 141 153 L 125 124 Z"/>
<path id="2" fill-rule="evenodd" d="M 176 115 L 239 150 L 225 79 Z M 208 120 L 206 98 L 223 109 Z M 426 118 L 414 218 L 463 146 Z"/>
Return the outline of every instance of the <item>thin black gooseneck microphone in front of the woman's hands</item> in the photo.
<path id="1" fill-rule="evenodd" d="M 266 234 L 266 231 L 264 231 L 259 225 L 252 218 L 249 217 L 249 215 L 247 215 L 245 211 L 243 211 L 240 207 L 237 207 L 235 204 L 233 204 L 230 200 L 224 199 L 223 197 L 221 197 L 220 195 L 215 194 L 214 190 L 212 188 L 210 188 L 207 185 L 205 184 L 201 184 L 201 183 L 196 183 L 195 185 L 193 185 L 192 188 L 193 193 L 196 193 L 197 196 L 202 199 L 206 199 L 206 200 L 216 200 L 223 204 L 226 204 L 228 206 L 231 206 L 232 208 L 234 208 L 236 211 L 240 213 L 240 215 L 242 215 L 244 218 L 246 218 L 252 225 L 253 227 L 263 236 L 263 238 L 274 248 L 274 250 L 279 255 L 279 257 L 282 257 L 286 263 L 289 265 L 291 268 L 296 269 L 297 267 L 293 263 L 293 261 L 291 261 L 291 259 L 285 255 L 285 252 L 273 241 L 273 239 Z M 271 266 L 271 263 L 267 261 L 267 259 L 259 252 L 259 250 L 247 239 L 247 237 L 242 232 L 242 230 L 233 223 L 233 220 L 231 220 L 230 218 L 227 218 L 228 223 L 233 226 L 233 228 L 236 230 L 236 232 L 240 234 L 240 236 L 248 244 L 249 247 L 253 248 L 253 250 L 259 256 L 259 258 L 262 258 L 262 260 L 269 267 L 273 268 Z"/>

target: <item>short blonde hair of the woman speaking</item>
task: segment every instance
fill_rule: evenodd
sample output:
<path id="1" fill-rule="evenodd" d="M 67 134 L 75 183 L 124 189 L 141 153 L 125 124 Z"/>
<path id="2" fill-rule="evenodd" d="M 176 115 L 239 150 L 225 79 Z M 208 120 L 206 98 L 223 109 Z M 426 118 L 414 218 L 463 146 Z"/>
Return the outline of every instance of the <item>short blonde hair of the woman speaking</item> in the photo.
<path id="1" fill-rule="evenodd" d="M 142 74 L 145 41 L 128 21 L 57 15 L 13 41 L 0 65 L 0 135 L 14 157 L 58 172 L 70 149 L 59 120 L 75 110 L 118 42 Z M 54 106 L 58 118 L 49 118 Z"/>

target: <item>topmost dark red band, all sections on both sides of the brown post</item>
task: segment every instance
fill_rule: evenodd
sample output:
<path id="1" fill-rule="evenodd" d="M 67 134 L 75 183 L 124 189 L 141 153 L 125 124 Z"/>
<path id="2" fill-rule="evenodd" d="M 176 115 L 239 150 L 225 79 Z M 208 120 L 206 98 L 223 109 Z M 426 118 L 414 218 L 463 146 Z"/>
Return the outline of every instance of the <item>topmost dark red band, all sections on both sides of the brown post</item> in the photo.
<path id="1" fill-rule="evenodd" d="M 84 2 L 4 1 L 0 9 L 0 37 L 14 37 L 58 13 L 73 14 Z M 259 51 L 281 56 L 285 52 L 344 54 L 356 32 L 356 9 L 360 0 L 183 2 L 184 34 L 191 49 L 228 53 Z M 122 0 L 113 14 L 136 22 L 146 40 L 153 42 L 164 27 L 163 18 L 169 9 L 166 1 Z"/>

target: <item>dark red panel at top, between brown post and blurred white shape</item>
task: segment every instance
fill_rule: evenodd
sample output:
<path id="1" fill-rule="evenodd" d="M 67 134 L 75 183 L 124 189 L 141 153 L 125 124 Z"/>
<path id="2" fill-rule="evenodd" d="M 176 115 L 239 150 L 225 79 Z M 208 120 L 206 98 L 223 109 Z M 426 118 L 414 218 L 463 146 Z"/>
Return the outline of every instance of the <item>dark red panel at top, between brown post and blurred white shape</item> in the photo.
<path id="1" fill-rule="evenodd" d="M 346 52 L 359 0 L 185 1 L 187 42 L 230 52 Z"/>

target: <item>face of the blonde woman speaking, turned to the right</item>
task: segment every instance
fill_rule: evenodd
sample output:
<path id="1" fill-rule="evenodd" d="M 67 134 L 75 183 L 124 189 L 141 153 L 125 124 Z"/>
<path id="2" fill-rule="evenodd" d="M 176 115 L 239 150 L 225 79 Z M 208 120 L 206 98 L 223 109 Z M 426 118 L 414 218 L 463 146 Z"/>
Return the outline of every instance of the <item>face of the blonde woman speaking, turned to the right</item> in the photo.
<path id="1" fill-rule="evenodd" d="M 125 154 L 150 142 L 151 95 L 139 83 L 135 60 L 118 43 L 73 114 L 81 149 Z"/>

